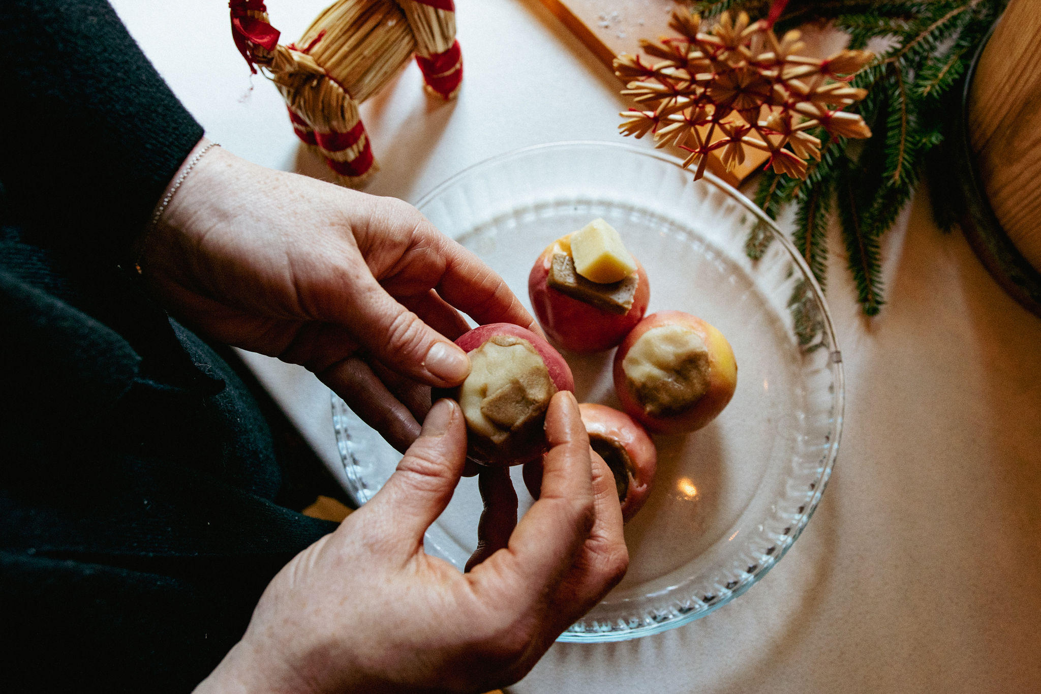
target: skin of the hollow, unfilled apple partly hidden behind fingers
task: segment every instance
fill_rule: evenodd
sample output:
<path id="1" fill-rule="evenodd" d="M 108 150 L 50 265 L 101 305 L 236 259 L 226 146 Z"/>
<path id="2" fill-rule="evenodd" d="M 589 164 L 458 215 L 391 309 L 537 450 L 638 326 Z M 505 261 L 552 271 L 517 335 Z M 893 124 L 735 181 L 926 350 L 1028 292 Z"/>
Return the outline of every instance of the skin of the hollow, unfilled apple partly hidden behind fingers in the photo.
<path id="1" fill-rule="evenodd" d="M 628 470 L 629 490 L 621 499 L 621 519 L 629 522 L 651 493 L 651 483 L 658 467 L 658 449 L 643 427 L 625 412 L 592 403 L 579 405 L 579 411 L 590 441 L 594 438 L 607 439 L 620 445 L 629 455 L 632 462 Z"/>

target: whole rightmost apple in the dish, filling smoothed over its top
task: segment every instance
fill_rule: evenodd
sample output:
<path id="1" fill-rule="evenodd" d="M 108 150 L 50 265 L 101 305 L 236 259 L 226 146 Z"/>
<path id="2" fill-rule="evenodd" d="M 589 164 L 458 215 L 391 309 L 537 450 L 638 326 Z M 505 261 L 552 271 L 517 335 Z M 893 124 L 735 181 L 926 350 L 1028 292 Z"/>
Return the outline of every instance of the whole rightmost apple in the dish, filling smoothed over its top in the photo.
<path id="1" fill-rule="evenodd" d="M 614 388 L 634 419 L 659 433 L 701 429 L 737 387 L 730 342 L 705 320 L 681 311 L 653 313 L 614 355 Z"/>

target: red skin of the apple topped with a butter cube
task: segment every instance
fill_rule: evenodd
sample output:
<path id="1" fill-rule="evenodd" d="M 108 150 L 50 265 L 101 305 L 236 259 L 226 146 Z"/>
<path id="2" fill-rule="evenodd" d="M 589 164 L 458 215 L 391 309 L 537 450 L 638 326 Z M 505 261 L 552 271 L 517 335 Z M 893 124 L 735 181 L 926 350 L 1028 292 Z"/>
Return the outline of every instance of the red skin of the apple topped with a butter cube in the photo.
<path id="1" fill-rule="evenodd" d="M 610 313 L 563 294 L 545 283 L 553 254 L 562 251 L 559 242 L 554 241 L 542 251 L 528 275 L 528 297 L 535 316 L 550 339 L 565 350 L 579 353 L 609 350 L 621 341 L 648 310 L 651 285 L 646 272 L 636 260 L 633 307 L 625 315 Z"/>

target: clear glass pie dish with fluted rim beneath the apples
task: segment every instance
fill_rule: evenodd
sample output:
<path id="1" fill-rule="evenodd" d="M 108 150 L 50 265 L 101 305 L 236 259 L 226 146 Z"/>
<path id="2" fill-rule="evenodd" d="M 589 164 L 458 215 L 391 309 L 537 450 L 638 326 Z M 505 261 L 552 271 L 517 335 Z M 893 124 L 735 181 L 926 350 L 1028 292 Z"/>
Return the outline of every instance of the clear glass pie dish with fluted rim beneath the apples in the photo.
<path id="1" fill-rule="evenodd" d="M 842 429 L 842 360 L 805 260 L 746 198 L 711 175 L 630 145 L 531 147 L 456 174 L 416 205 L 498 272 L 526 304 L 528 273 L 551 241 L 602 216 L 646 268 L 648 313 L 693 313 L 730 340 L 737 390 L 691 434 L 655 436 L 651 496 L 626 526 L 625 580 L 561 641 L 617 641 L 703 617 L 788 551 L 820 500 Z M 752 260 L 753 234 L 762 251 Z M 530 309 L 530 305 L 529 305 Z M 613 351 L 564 353 L 579 402 L 618 408 Z M 349 492 L 364 504 L 400 456 L 335 395 Z M 520 512 L 531 504 L 512 470 Z M 477 544 L 481 499 L 464 479 L 427 533 L 427 551 L 460 569 Z"/>

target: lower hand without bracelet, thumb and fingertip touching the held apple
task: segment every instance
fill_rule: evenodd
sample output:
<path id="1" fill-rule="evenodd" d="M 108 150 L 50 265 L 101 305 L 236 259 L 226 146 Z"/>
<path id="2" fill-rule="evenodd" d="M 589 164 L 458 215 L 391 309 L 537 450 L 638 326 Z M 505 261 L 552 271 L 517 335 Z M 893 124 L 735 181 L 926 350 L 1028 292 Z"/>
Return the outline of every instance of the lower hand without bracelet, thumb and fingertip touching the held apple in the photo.
<path id="1" fill-rule="evenodd" d="M 461 573 L 423 550 L 466 449 L 459 406 L 439 401 L 383 489 L 275 576 L 197 692 L 481 692 L 519 679 L 629 561 L 614 479 L 572 393 L 554 396 L 545 431 L 538 500 L 516 522 L 515 497 L 510 519 L 509 494 L 482 489 L 505 503 L 489 504 Z"/>

